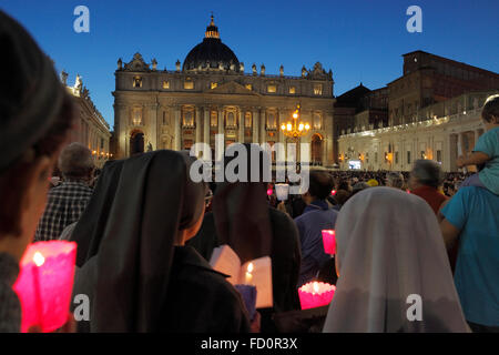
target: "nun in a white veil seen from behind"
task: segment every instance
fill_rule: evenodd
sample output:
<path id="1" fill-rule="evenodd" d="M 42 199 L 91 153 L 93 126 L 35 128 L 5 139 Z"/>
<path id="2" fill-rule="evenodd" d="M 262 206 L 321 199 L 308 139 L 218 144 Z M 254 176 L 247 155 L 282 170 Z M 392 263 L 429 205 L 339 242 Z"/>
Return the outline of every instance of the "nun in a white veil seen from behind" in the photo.
<path id="1" fill-rule="evenodd" d="M 338 215 L 336 243 L 339 278 L 325 333 L 469 332 L 422 199 L 391 187 L 359 192 Z"/>

